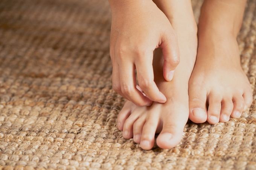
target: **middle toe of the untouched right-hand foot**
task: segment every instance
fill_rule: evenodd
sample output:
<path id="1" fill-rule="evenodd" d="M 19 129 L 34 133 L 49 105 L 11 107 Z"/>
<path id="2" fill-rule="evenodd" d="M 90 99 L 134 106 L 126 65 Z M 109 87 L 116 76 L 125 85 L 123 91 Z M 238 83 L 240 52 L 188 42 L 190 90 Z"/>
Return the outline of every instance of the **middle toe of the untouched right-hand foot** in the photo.
<path id="1" fill-rule="evenodd" d="M 219 117 L 219 121 L 221 121 L 221 122 L 229 121 L 232 110 L 233 110 L 232 99 L 227 98 L 227 99 L 222 100 L 222 102 L 221 102 L 221 115 Z"/>

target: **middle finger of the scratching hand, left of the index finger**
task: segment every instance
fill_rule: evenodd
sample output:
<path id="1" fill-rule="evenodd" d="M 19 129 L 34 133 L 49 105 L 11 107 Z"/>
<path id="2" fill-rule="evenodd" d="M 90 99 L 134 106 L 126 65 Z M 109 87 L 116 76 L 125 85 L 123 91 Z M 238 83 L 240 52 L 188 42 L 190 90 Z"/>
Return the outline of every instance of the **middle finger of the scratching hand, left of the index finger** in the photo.
<path id="1" fill-rule="evenodd" d="M 122 62 L 119 65 L 121 91 L 128 100 L 138 106 L 150 106 L 152 101 L 136 88 L 135 68 L 132 63 Z"/>

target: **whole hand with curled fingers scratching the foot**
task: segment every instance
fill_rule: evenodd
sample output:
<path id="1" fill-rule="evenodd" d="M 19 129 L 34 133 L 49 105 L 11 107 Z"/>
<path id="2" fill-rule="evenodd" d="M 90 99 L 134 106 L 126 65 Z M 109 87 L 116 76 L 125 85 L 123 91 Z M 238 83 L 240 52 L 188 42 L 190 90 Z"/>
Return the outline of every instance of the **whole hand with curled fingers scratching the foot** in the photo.
<path id="1" fill-rule="evenodd" d="M 154 82 L 153 51 L 162 48 L 163 76 L 171 81 L 179 63 L 178 42 L 165 16 L 151 0 L 110 0 L 112 25 L 110 56 L 113 89 L 138 106 L 166 97 Z M 136 74 L 140 88 L 136 88 Z"/>

